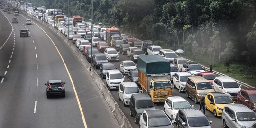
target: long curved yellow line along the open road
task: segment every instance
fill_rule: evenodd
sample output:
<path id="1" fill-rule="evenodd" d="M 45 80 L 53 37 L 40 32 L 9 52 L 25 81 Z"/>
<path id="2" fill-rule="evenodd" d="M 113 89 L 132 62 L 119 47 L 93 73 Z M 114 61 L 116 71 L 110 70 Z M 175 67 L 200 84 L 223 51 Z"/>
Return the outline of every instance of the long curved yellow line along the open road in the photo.
<path id="1" fill-rule="evenodd" d="M 24 16 L 23 16 L 23 17 L 24 17 Z M 34 22 L 33 22 L 33 23 L 34 23 Z M 34 23 L 34 24 L 37 25 L 36 23 Z M 37 27 L 39 27 L 39 26 L 37 25 Z M 71 77 L 71 75 L 70 75 L 70 73 L 69 73 L 69 70 L 68 70 L 68 68 L 67 68 L 67 66 L 66 66 L 66 63 L 65 63 L 65 61 L 64 61 L 64 59 L 63 59 L 63 57 L 62 57 L 62 55 L 61 55 L 61 53 L 60 53 L 60 51 L 59 51 L 59 49 L 57 48 L 57 46 L 55 45 L 55 43 L 54 43 L 53 40 L 51 39 L 51 37 L 50 37 L 41 27 L 39 27 L 39 28 L 40 28 L 40 29 L 46 34 L 46 36 L 49 37 L 49 39 L 52 41 L 53 45 L 55 46 L 57 52 L 59 53 L 59 55 L 60 55 L 60 57 L 61 57 L 61 59 L 62 59 L 62 62 L 63 62 L 63 64 L 64 64 L 65 68 L 66 68 L 66 71 L 67 71 L 67 73 L 68 73 L 69 79 L 70 79 L 70 81 L 71 81 L 71 83 L 72 83 L 72 86 L 73 86 L 73 90 L 74 90 L 74 93 L 75 93 L 76 101 L 77 101 L 77 103 L 78 103 L 79 110 L 80 110 L 80 113 L 81 113 L 81 116 L 82 116 L 82 121 L 83 121 L 84 128 L 87 128 L 87 124 L 86 124 L 86 122 L 85 122 L 85 117 L 84 117 L 83 112 L 82 112 L 81 103 L 80 103 L 80 101 L 79 101 L 79 98 L 78 98 L 78 95 L 77 95 L 77 92 L 76 92 L 76 89 L 75 89 L 75 86 L 74 86 L 74 83 L 73 83 L 73 79 L 72 79 L 72 77 Z"/>

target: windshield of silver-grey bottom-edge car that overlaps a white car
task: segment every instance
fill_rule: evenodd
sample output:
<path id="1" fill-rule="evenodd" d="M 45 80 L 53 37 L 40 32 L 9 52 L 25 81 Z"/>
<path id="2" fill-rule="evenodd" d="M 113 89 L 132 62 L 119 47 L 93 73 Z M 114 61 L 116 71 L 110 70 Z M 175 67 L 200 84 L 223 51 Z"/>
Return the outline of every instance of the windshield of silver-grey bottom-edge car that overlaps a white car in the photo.
<path id="1" fill-rule="evenodd" d="M 188 118 L 188 124 L 191 127 L 209 126 L 209 121 L 206 117 L 190 117 Z"/>

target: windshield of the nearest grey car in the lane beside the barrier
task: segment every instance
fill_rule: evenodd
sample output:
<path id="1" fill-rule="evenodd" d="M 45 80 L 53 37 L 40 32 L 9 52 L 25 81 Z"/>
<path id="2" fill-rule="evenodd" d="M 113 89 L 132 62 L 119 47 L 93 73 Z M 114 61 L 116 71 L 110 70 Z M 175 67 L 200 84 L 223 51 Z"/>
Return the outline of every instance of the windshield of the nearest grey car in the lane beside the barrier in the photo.
<path id="1" fill-rule="evenodd" d="M 157 126 L 168 126 L 168 125 L 171 125 L 171 122 L 166 116 L 148 118 L 148 126 L 157 127 Z"/>

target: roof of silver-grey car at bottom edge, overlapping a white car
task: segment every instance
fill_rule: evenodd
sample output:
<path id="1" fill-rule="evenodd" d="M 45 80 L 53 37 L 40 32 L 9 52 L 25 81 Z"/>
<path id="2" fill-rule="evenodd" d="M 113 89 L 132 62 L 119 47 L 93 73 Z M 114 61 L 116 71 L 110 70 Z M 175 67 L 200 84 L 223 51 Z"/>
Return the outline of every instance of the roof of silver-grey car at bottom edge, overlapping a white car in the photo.
<path id="1" fill-rule="evenodd" d="M 205 115 L 198 109 L 193 107 L 180 108 L 181 111 L 189 117 L 205 117 Z"/>

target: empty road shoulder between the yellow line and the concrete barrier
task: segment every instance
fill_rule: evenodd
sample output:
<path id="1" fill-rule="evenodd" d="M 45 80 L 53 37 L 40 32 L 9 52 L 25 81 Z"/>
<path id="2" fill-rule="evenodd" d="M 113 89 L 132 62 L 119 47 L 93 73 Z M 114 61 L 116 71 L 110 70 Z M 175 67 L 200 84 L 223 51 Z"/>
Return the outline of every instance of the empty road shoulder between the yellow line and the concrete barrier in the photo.
<path id="1" fill-rule="evenodd" d="M 69 72 L 73 77 L 73 82 L 76 87 L 88 127 L 119 127 L 117 120 L 111 113 L 111 110 L 102 97 L 101 92 L 91 79 L 89 73 L 85 72 L 84 66 L 80 63 L 77 56 L 73 54 L 71 49 L 64 44 L 62 39 L 53 33 L 52 30 L 44 28 L 41 24 L 38 25 L 41 26 L 50 37 L 52 37 L 66 62 Z M 44 52 L 46 51 L 48 51 L 48 49 L 45 49 Z M 67 83 L 67 85 L 71 86 L 69 83 Z M 101 123 L 98 123 L 98 120 L 101 120 Z"/>

